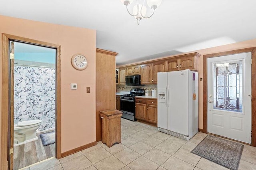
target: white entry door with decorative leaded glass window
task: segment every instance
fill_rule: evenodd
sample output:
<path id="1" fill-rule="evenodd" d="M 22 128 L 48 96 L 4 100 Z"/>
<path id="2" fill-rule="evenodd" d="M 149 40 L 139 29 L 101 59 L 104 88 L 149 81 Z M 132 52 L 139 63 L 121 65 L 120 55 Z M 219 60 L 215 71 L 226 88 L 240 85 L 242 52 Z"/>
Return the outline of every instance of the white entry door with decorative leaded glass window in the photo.
<path id="1" fill-rule="evenodd" d="M 251 53 L 207 59 L 208 132 L 251 143 Z"/>

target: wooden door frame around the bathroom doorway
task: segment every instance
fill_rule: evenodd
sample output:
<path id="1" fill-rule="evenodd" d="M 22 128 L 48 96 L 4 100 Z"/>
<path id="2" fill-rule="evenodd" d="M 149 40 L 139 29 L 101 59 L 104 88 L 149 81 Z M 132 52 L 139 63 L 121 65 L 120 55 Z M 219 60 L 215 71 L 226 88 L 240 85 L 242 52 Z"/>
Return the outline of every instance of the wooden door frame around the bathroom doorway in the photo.
<path id="1" fill-rule="evenodd" d="M 2 170 L 8 169 L 9 161 L 9 142 L 8 142 L 8 119 L 9 119 L 9 41 L 24 42 L 44 47 L 51 47 L 56 49 L 56 158 L 60 158 L 60 52 L 61 46 L 53 43 L 42 42 L 23 38 L 20 36 L 13 36 L 2 33 L 2 125 L 1 125 L 1 167 Z M 13 135 L 13 134 L 11 134 Z"/>

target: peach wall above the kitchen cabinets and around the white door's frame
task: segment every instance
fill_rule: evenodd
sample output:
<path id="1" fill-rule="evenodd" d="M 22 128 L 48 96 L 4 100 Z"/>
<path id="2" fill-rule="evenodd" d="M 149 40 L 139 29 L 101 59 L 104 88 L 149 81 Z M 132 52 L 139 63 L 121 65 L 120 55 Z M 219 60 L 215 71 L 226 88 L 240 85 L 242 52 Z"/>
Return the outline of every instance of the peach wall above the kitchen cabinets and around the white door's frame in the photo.
<path id="1" fill-rule="evenodd" d="M 200 49 L 200 50 L 196 50 L 196 51 L 190 51 L 188 53 L 193 53 L 193 52 L 198 52 L 201 54 L 200 58 L 199 58 L 199 71 L 198 71 L 198 76 L 199 77 L 203 77 L 203 55 L 206 54 L 211 54 L 211 53 L 218 53 L 218 52 L 224 52 L 224 51 L 230 51 L 230 50 L 236 50 L 236 49 L 243 49 L 243 48 L 248 48 L 248 47 L 256 47 L 256 39 L 253 40 L 248 40 L 248 41 L 244 41 L 244 42 L 237 42 L 237 43 L 232 43 L 232 44 L 228 44 L 228 45 L 221 45 L 221 46 L 217 46 L 217 47 L 211 47 L 211 48 L 206 48 L 206 49 Z M 186 53 L 184 53 L 186 54 Z M 174 57 L 177 55 L 170 55 L 167 57 Z M 166 58 L 166 57 L 160 57 L 158 59 L 161 58 Z M 146 61 L 152 61 L 154 59 L 150 59 L 150 60 L 146 60 Z M 127 65 L 133 65 L 133 64 L 138 64 L 139 62 L 136 63 L 130 63 Z M 126 65 L 117 65 L 118 67 L 123 67 Z M 203 81 L 199 81 L 199 98 L 198 98 L 198 102 L 199 102 L 199 128 L 203 129 Z"/>

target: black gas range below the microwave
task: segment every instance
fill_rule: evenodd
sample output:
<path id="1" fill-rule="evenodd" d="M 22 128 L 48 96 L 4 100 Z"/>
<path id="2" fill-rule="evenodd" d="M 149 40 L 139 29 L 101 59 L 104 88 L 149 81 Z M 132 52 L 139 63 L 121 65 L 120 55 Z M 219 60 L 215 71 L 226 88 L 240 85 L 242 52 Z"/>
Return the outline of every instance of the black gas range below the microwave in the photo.
<path id="1" fill-rule="evenodd" d="M 130 94 L 120 96 L 120 111 L 123 112 L 123 118 L 136 121 L 135 97 L 143 95 L 145 95 L 144 89 L 131 89 Z"/>

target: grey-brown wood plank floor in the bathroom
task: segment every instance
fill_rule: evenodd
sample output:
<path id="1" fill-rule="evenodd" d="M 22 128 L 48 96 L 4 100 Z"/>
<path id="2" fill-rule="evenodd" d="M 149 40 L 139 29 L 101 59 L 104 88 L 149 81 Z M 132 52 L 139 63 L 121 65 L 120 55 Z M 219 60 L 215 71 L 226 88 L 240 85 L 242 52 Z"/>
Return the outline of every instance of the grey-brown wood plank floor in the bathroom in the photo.
<path id="1" fill-rule="evenodd" d="M 53 130 L 49 130 L 46 132 L 51 131 Z M 39 134 L 46 132 L 37 133 L 36 136 L 38 136 L 38 140 L 36 141 L 32 141 L 19 146 L 14 146 L 14 170 L 24 168 L 25 166 L 55 156 L 55 143 L 48 146 L 43 146 L 42 144 Z"/>

